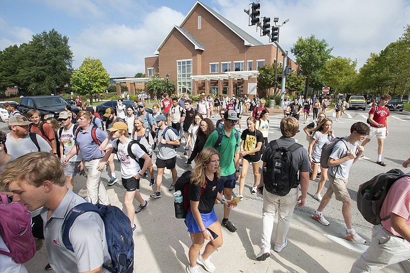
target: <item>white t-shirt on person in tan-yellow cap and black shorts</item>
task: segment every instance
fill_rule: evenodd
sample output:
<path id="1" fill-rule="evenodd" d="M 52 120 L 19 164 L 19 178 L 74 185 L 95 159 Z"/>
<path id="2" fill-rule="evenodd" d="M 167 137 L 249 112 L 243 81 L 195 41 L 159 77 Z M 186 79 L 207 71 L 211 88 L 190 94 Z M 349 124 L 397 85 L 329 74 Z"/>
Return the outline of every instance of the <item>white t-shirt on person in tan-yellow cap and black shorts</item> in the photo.
<path id="1" fill-rule="evenodd" d="M 113 147 L 118 148 L 117 156 L 119 162 L 121 162 L 121 177 L 125 179 L 131 178 L 141 171 L 138 162 L 128 155 L 128 144 L 130 142 L 131 139 L 129 139 L 124 145 L 121 144 L 121 142 L 118 142 L 118 147 L 117 140 L 112 142 Z M 137 143 L 131 146 L 131 151 L 137 157 L 136 159 L 145 155 L 145 152 L 142 151 Z"/>

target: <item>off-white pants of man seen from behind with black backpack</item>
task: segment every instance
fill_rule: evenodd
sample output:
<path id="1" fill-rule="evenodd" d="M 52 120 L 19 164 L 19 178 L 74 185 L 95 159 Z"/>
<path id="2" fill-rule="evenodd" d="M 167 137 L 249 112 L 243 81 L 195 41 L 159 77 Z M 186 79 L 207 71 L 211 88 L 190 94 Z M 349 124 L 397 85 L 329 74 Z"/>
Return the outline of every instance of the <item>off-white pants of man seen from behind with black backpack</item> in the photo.
<path id="1" fill-rule="evenodd" d="M 281 247 L 284 245 L 297 199 L 298 188 L 292 188 L 289 194 L 285 196 L 278 196 L 263 190 L 261 248 L 271 248 L 273 222 L 276 213 L 278 213 L 278 226 L 275 233 L 275 246 Z"/>

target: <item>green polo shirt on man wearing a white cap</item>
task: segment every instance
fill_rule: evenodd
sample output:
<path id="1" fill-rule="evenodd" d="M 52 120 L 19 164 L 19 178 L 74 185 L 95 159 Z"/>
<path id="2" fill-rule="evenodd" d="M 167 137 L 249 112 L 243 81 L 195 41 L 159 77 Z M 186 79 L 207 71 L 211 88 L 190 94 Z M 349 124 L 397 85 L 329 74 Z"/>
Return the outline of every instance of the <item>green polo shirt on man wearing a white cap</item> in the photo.
<path id="1" fill-rule="evenodd" d="M 232 129 L 231 136 L 228 137 L 225 134 L 223 128 L 222 130 L 222 141 L 221 144 L 216 148 L 216 150 L 221 155 L 221 159 L 219 160 L 219 166 L 221 169 L 221 176 L 229 176 L 235 173 L 235 163 L 234 163 L 234 156 L 235 151 L 239 151 L 240 145 L 240 133 L 238 132 L 238 141 L 235 139 L 235 128 Z M 218 141 L 218 131 L 214 131 L 211 133 L 207 142 L 203 146 L 204 148 L 213 147 Z"/>

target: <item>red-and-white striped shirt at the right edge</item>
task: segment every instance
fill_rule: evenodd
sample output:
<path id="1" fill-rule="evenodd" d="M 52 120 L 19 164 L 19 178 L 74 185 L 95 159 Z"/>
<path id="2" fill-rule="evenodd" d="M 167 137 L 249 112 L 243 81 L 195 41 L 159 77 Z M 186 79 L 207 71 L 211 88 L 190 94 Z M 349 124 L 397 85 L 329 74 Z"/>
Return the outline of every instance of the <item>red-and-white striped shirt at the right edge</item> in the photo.
<path id="1" fill-rule="evenodd" d="M 381 207 L 380 218 L 384 218 L 392 213 L 406 219 L 407 226 L 410 226 L 410 177 L 398 179 L 388 191 Z M 391 218 L 381 221 L 381 224 L 388 232 L 402 237 L 392 227 Z"/>

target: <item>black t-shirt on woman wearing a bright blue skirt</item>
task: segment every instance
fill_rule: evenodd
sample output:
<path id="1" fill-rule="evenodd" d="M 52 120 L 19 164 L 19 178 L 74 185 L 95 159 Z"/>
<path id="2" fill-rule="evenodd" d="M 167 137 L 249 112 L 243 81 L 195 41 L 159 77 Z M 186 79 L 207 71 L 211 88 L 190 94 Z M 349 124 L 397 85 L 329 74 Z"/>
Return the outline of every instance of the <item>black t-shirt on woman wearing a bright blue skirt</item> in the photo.
<path id="1" fill-rule="evenodd" d="M 213 181 L 209 180 L 206 176 L 205 179 L 207 183 L 204 185 L 202 194 L 200 194 L 202 188 L 200 186 L 195 186 L 194 184 L 189 184 L 188 190 L 188 200 L 199 201 L 198 210 L 199 213 L 203 214 L 212 212 L 219 190 L 216 174 L 214 174 Z"/>

